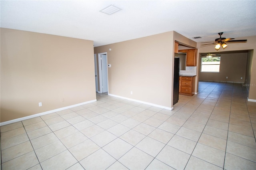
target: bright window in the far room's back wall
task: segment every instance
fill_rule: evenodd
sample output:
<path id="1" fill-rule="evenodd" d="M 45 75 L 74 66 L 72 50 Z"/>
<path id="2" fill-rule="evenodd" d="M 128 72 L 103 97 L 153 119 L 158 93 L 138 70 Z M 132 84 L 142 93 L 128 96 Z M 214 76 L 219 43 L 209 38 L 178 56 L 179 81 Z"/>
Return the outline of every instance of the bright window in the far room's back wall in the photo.
<path id="1" fill-rule="evenodd" d="M 201 72 L 220 72 L 220 57 L 202 57 Z"/>

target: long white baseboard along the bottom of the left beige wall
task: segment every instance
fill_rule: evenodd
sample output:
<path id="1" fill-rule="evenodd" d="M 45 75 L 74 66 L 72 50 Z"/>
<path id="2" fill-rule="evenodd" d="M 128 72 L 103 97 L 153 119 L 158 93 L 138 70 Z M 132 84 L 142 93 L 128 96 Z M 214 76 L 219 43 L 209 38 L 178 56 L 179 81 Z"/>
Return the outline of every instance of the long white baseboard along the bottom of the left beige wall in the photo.
<path id="1" fill-rule="evenodd" d="M 86 101 L 86 102 L 83 102 L 83 103 L 78 103 L 78 104 L 75 104 L 75 105 L 66 106 L 66 107 L 62 107 L 62 108 L 59 108 L 59 109 L 54 109 L 54 110 L 51 110 L 51 111 L 46 111 L 46 112 L 37 113 L 37 114 L 26 116 L 26 117 L 21 117 L 21 118 L 18 118 L 18 119 L 13 119 L 13 120 L 10 120 L 10 121 L 0 123 L 0 126 L 8 125 L 10 123 L 15 123 L 15 122 L 19 122 L 19 121 L 24 121 L 26 119 L 31 119 L 31 118 L 38 117 L 38 116 L 47 115 L 47 114 L 62 111 L 62 110 L 65 110 L 65 109 L 70 109 L 72 107 L 85 105 L 85 104 L 92 103 L 92 102 L 95 102 L 95 101 L 97 101 L 97 100 L 95 99 L 95 100 L 91 100 L 91 101 Z"/>

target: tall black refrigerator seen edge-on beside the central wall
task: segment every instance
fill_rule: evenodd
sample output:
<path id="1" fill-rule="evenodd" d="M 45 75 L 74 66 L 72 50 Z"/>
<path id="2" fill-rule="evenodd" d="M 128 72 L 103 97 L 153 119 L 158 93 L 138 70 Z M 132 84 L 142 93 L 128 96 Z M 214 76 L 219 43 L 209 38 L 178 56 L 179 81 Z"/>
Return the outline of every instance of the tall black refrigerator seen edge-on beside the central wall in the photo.
<path id="1" fill-rule="evenodd" d="M 179 100 L 180 58 L 174 57 L 173 105 Z"/>

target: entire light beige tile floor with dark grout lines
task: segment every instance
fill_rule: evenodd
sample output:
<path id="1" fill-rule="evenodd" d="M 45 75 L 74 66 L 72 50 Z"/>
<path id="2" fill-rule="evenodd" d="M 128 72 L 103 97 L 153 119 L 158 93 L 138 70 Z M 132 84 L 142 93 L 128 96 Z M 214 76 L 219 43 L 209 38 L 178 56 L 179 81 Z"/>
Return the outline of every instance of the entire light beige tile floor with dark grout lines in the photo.
<path id="1" fill-rule="evenodd" d="M 256 103 L 240 84 L 200 82 L 169 111 L 97 102 L 1 127 L 1 169 L 256 169 Z"/>

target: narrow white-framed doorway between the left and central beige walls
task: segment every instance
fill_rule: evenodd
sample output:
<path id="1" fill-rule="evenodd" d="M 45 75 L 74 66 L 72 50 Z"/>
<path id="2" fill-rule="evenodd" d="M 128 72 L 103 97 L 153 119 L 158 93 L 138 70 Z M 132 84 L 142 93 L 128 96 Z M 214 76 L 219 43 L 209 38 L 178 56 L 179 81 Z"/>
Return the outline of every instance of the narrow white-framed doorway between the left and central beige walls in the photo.
<path id="1" fill-rule="evenodd" d="M 99 93 L 108 92 L 108 62 L 107 53 L 98 53 Z"/>

